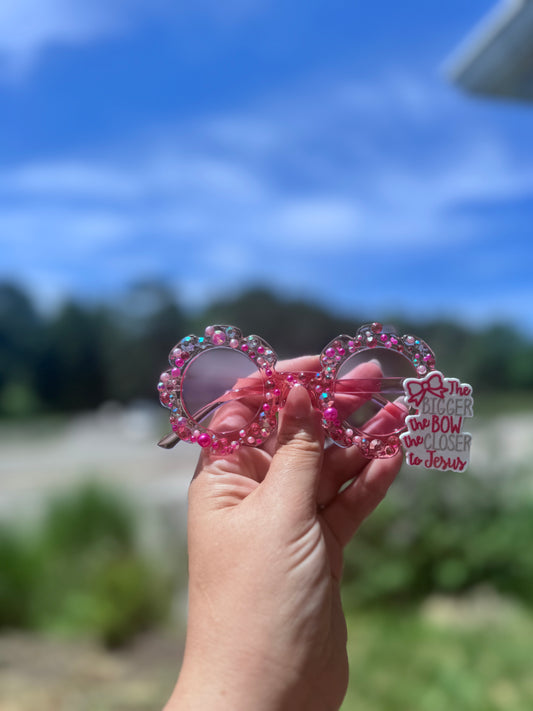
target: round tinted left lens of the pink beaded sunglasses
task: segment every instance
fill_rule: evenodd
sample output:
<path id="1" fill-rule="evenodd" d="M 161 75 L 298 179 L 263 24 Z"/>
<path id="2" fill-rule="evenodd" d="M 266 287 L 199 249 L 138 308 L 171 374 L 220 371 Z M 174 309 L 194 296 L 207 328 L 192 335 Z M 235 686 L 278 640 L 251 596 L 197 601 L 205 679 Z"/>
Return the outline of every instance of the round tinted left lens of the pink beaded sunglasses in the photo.
<path id="1" fill-rule="evenodd" d="M 255 363 L 229 348 L 199 353 L 185 369 L 181 383 L 189 416 L 220 434 L 249 425 L 259 413 L 263 392 Z"/>

